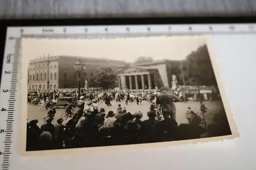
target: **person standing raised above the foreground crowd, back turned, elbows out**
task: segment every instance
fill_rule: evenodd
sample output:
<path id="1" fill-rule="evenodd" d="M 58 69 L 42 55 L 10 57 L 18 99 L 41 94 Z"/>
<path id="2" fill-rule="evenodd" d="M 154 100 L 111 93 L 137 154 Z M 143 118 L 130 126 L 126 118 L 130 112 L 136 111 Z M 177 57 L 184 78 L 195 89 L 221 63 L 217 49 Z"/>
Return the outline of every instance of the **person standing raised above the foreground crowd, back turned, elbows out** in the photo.
<path id="1" fill-rule="evenodd" d="M 161 87 L 160 91 L 161 92 L 156 98 L 156 104 L 160 105 L 163 114 L 169 115 L 170 118 L 176 120 L 176 107 L 174 101 L 180 102 L 180 98 L 170 93 L 168 87 Z"/>

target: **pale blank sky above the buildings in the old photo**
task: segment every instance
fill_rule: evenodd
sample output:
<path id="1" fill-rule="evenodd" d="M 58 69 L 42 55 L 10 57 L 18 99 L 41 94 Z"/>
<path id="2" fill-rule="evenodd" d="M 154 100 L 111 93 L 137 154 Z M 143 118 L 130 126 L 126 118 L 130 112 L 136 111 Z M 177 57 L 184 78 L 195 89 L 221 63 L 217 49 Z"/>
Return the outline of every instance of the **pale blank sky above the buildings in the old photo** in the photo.
<path id="1" fill-rule="evenodd" d="M 39 56 L 70 55 L 108 58 L 133 62 L 139 56 L 154 60 L 182 60 L 205 44 L 205 38 L 141 37 L 116 39 L 23 39 L 23 57 L 29 61 Z"/>

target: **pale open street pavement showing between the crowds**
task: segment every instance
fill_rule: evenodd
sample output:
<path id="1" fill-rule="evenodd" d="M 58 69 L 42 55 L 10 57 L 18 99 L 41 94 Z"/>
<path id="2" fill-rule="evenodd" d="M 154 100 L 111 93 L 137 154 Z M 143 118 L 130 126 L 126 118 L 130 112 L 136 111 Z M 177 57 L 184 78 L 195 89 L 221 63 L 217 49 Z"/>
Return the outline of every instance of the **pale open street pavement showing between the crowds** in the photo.
<path id="1" fill-rule="evenodd" d="M 205 106 L 210 110 L 211 113 L 218 112 L 222 108 L 222 104 L 220 101 L 206 101 L 204 102 Z M 106 106 L 104 103 L 99 103 L 99 108 L 103 107 L 108 111 L 112 110 L 116 112 L 117 105 L 121 104 L 122 108 L 125 107 L 127 112 L 134 113 L 136 111 L 141 111 L 143 113 L 142 120 L 147 119 L 146 112 L 150 109 L 150 104 L 146 101 L 142 101 L 141 105 L 137 105 L 136 103 L 129 103 L 125 105 L 124 102 L 111 102 L 112 106 Z M 38 119 L 38 126 L 40 127 L 44 124 L 44 117 L 47 116 L 47 111 L 41 111 L 40 107 L 43 104 L 39 104 L 38 106 L 28 105 L 28 120 Z M 199 113 L 200 103 L 199 102 L 186 102 L 186 103 L 176 103 L 177 113 L 176 113 L 176 120 L 178 124 L 188 123 L 187 119 L 185 118 L 185 112 L 187 111 L 187 107 L 191 107 L 191 109 Z M 55 120 L 61 117 L 61 114 L 65 112 L 65 108 L 57 108 L 55 114 Z M 211 119 L 210 117 L 208 119 Z M 210 120 L 209 120 L 210 121 Z M 56 121 L 55 121 L 56 122 Z M 66 124 L 66 122 L 63 122 Z"/>

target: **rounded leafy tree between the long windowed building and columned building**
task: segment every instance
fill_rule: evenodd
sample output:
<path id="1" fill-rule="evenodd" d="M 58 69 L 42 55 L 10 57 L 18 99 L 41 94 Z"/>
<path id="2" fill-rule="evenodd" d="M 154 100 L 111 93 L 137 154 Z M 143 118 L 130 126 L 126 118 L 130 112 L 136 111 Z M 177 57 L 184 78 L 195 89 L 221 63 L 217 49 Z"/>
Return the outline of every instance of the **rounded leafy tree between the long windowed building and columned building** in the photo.
<path id="1" fill-rule="evenodd" d="M 117 75 L 111 67 L 102 67 L 92 72 L 88 80 L 89 87 L 114 88 L 117 83 Z"/>

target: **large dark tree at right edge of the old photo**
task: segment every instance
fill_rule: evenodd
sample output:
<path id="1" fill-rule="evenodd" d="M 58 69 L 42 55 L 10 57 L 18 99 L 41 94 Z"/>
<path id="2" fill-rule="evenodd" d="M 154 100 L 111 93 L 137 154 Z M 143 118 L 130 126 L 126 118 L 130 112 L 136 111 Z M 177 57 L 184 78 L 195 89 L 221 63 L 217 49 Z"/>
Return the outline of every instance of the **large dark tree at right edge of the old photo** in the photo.
<path id="1" fill-rule="evenodd" d="M 200 46 L 186 58 L 189 78 L 200 85 L 217 86 L 214 69 L 206 45 Z"/>

